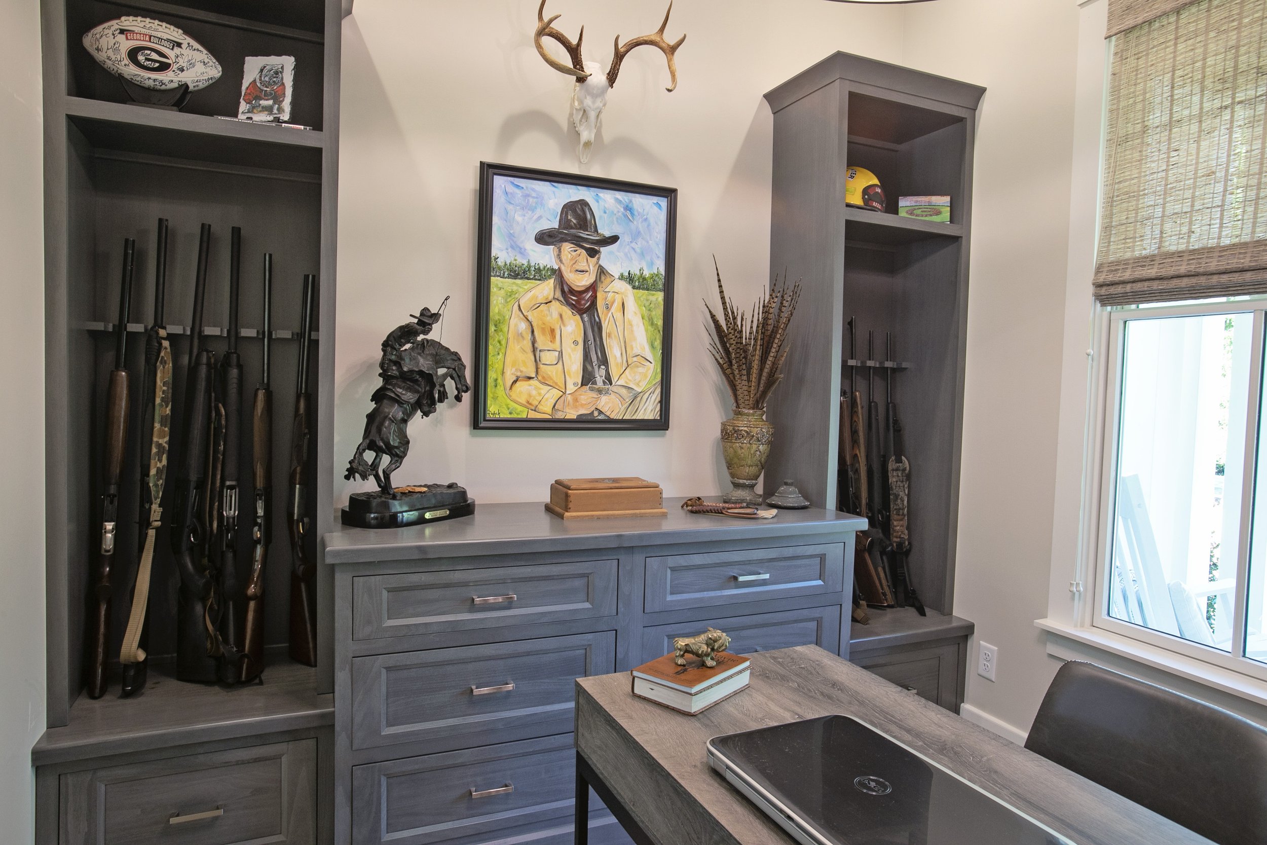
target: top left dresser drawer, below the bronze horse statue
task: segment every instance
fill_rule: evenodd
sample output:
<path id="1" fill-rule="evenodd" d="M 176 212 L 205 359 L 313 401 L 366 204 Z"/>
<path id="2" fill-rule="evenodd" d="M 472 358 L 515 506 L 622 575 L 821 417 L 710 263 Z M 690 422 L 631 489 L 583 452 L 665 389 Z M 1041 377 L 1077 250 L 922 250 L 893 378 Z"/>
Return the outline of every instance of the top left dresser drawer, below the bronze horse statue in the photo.
<path id="1" fill-rule="evenodd" d="M 588 619 L 616 613 L 616 560 L 352 580 L 356 640 Z"/>

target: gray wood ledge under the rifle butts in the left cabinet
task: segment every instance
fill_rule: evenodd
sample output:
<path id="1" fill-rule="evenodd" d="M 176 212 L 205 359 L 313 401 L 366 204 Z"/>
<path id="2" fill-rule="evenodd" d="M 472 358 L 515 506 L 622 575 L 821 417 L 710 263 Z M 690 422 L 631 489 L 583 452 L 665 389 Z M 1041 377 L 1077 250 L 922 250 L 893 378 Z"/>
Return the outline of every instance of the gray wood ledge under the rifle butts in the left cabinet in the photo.
<path id="1" fill-rule="evenodd" d="M 334 697 L 317 693 L 317 670 L 308 666 L 283 660 L 265 669 L 262 684 L 232 689 L 181 683 L 170 669 L 151 666 L 146 689 L 132 698 L 118 697 L 118 679 L 104 698 L 80 696 L 70 723 L 44 731 L 35 742 L 32 763 L 49 765 L 334 722 Z"/>

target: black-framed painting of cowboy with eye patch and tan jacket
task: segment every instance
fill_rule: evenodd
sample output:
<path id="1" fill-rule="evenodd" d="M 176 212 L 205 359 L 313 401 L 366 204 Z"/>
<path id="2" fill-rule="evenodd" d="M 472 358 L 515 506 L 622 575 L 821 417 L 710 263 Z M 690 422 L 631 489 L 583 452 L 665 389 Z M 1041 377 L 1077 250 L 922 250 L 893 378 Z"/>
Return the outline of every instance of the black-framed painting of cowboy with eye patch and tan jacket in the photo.
<path id="1" fill-rule="evenodd" d="M 677 190 L 485 162 L 475 427 L 669 427 Z"/>

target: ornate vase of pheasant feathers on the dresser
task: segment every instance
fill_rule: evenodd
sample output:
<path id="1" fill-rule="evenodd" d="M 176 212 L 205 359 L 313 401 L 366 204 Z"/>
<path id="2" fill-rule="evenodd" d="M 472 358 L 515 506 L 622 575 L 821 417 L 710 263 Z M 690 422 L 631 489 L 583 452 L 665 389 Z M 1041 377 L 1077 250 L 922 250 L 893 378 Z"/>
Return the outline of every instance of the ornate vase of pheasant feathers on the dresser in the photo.
<path id="1" fill-rule="evenodd" d="M 716 258 L 713 258 L 716 269 Z M 763 295 L 750 313 L 740 313 L 726 296 L 717 269 L 721 317 L 708 309 L 708 352 L 717 362 L 735 402 L 734 416 L 721 424 L 721 454 L 726 461 L 731 490 L 722 500 L 760 504 L 756 481 L 765 470 L 774 442 L 774 426 L 765 421 L 765 403 L 783 378 L 787 357 L 787 332 L 801 296 L 801 285 L 788 288 L 778 277 L 769 295 Z"/>

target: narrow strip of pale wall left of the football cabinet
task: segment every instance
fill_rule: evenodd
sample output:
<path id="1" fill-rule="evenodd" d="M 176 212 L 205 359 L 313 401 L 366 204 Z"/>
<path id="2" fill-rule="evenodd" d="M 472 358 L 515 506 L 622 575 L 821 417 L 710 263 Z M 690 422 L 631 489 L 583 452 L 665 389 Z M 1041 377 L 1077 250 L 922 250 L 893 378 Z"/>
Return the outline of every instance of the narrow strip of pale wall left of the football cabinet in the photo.
<path id="1" fill-rule="evenodd" d="M 0 27 L 0 820 L 34 823 L 30 746 L 44 730 L 44 252 L 39 4 L 9 0 Z"/>

